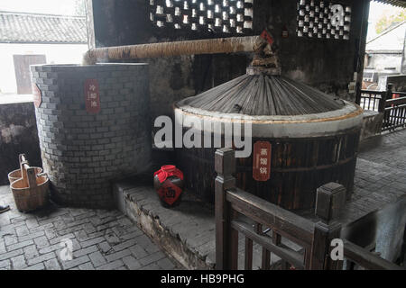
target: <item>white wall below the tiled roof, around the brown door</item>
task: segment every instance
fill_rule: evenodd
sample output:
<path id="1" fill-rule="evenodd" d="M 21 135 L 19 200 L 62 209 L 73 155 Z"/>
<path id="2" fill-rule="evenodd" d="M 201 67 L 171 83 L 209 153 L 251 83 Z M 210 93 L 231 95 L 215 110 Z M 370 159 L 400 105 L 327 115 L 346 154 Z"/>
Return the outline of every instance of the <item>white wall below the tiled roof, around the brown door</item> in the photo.
<path id="1" fill-rule="evenodd" d="M 78 64 L 87 44 L 6 44 L 0 43 L 0 93 L 17 93 L 13 55 L 44 54 L 47 64 Z"/>

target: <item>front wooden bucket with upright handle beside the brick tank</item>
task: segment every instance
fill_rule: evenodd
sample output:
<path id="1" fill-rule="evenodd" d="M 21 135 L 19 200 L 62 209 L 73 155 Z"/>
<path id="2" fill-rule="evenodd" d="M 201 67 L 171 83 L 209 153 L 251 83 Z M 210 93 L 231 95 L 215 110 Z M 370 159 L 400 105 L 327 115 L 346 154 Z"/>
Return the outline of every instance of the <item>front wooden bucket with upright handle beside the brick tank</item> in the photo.
<path id="1" fill-rule="evenodd" d="M 25 162 L 22 162 L 22 175 L 10 185 L 18 211 L 33 211 L 45 206 L 50 187 L 47 175 L 36 175 L 35 167 Z"/>

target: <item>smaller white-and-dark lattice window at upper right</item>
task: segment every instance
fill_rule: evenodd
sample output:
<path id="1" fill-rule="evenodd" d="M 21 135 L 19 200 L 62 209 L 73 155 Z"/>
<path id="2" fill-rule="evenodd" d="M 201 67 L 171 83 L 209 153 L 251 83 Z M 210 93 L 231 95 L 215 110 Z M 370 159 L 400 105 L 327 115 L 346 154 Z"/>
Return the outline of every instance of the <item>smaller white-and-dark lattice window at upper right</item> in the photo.
<path id="1" fill-rule="evenodd" d="M 298 0 L 299 37 L 348 40 L 350 24 L 351 6 Z"/>

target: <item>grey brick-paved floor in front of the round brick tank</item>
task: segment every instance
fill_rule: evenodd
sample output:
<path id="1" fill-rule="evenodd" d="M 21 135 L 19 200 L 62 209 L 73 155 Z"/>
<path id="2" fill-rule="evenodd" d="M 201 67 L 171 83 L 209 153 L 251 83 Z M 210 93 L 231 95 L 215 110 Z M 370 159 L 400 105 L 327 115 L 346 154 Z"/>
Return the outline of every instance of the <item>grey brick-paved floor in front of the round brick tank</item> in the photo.
<path id="1" fill-rule="evenodd" d="M 8 186 L 0 186 L 0 269 L 176 269 L 175 261 L 119 211 L 50 206 L 35 213 L 15 209 Z M 63 243 L 72 243 L 65 260 Z M 61 244 L 62 243 L 62 244 Z"/>

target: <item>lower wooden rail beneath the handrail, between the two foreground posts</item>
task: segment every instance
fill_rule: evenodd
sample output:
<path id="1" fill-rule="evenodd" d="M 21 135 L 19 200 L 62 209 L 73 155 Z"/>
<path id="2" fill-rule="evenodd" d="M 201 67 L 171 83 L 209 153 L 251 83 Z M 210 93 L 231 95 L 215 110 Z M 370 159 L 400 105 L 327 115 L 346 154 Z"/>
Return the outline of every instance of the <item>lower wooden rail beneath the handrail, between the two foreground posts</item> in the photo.
<path id="1" fill-rule="evenodd" d="M 303 269 L 303 256 L 300 253 L 292 250 L 289 247 L 276 246 L 272 243 L 272 239 L 263 235 L 258 235 L 252 227 L 241 220 L 232 220 L 231 226 L 243 233 L 246 237 L 251 238 L 254 242 L 262 245 L 267 250 L 271 251 L 278 257 L 285 259 L 297 269 Z"/>

